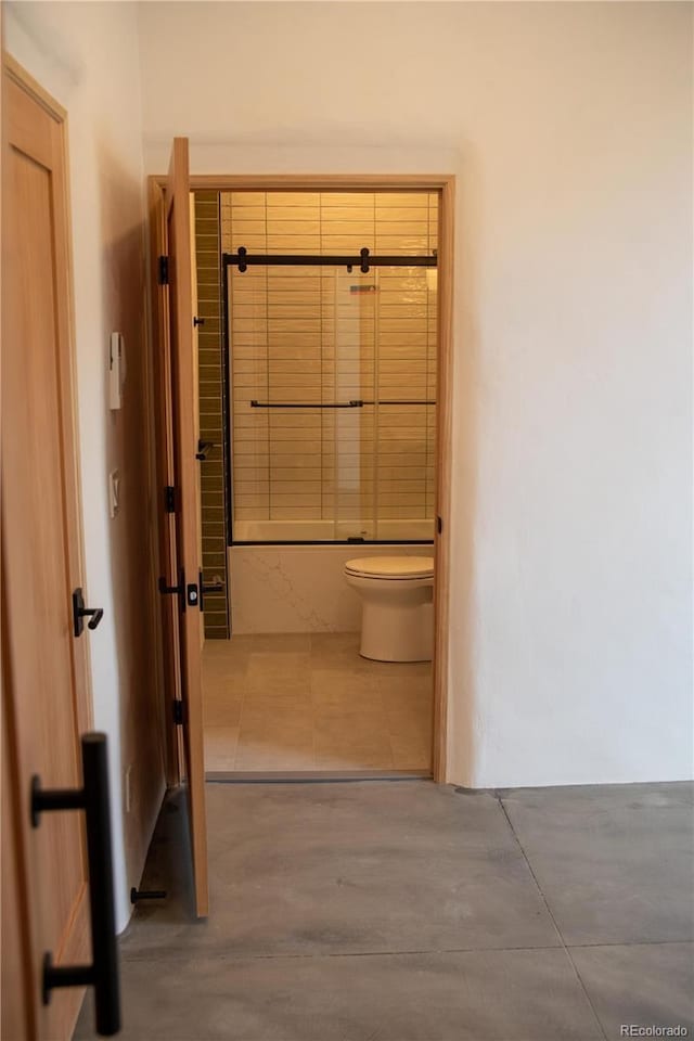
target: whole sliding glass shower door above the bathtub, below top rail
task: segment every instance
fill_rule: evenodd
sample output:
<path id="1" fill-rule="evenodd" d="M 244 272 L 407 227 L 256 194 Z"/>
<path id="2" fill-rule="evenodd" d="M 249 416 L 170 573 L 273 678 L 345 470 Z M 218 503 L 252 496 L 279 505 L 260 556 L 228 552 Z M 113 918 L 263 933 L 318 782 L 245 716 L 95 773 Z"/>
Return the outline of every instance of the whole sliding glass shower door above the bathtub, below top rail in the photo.
<path id="1" fill-rule="evenodd" d="M 411 265 L 365 272 L 327 256 L 245 270 L 226 257 L 233 542 L 433 539 L 427 242 Z"/>

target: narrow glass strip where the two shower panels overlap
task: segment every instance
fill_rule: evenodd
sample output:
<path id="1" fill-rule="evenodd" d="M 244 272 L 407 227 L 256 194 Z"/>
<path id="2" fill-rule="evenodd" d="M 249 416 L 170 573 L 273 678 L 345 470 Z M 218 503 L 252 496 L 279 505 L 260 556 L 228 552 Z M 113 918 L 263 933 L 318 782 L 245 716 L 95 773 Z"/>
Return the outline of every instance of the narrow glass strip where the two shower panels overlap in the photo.
<path id="1" fill-rule="evenodd" d="M 332 386 L 335 402 L 335 538 L 375 538 L 375 355 L 377 274 L 332 270 Z M 327 281 L 327 280 L 326 280 Z M 324 330 L 325 335 L 325 330 Z"/>

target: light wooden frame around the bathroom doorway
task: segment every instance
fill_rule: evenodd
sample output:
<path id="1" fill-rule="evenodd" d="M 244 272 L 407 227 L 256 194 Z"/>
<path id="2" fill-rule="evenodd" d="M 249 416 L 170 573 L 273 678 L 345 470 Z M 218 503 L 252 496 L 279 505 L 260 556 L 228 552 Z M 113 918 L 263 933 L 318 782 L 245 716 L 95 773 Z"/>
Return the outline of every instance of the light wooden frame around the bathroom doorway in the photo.
<path id="1" fill-rule="evenodd" d="M 164 176 L 149 178 L 150 198 L 162 192 Z M 436 192 L 438 216 L 438 350 L 436 409 L 435 514 L 441 530 L 434 536 L 434 728 L 432 773 L 439 784 L 447 781 L 449 570 L 451 537 L 451 457 L 453 398 L 453 227 L 455 177 L 452 174 L 332 174 L 332 175 L 191 175 L 191 191 L 217 192 Z M 156 239 L 152 221 L 152 271 L 155 274 Z M 156 278 L 153 278 L 153 312 L 157 313 Z M 156 333 L 154 338 L 157 351 Z M 160 493 L 160 489 L 157 489 Z M 170 728 L 170 724 L 169 724 Z M 167 728 L 167 730 L 169 729 Z M 170 737 L 167 736 L 167 747 Z"/>

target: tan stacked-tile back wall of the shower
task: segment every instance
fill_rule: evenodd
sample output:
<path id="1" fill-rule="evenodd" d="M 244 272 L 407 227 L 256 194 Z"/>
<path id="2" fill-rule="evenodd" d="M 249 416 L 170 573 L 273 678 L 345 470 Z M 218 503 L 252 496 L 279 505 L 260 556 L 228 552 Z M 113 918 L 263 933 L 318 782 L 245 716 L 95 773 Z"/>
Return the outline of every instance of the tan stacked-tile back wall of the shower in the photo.
<path id="1" fill-rule="evenodd" d="M 222 249 L 386 255 L 436 249 L 433 193 L 221 195 Z M 376 537 L 374 517 L 434 510 L 434 406 L 264 410 L 434 400 L 436 272 L 425 268 L 230 269 L 236 519 L 333 519 Z M 363 522 L 364 527 L 357 522 Z"/>

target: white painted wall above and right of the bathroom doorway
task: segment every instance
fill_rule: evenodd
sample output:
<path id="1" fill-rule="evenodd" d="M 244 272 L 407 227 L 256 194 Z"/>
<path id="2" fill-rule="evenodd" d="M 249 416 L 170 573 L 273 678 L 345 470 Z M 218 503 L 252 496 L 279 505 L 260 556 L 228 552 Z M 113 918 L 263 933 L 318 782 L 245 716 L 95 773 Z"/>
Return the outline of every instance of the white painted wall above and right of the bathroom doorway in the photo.
<path id="1" fill-rule="evenodd" d="M 150 171 L 458 176 L 451 781 L 692 773 L 691 21 L 140 5 Z"/>

